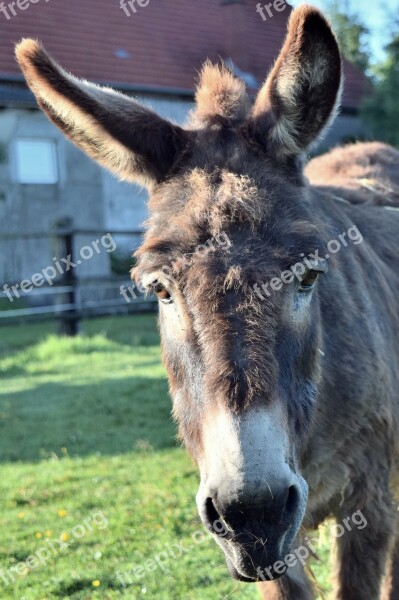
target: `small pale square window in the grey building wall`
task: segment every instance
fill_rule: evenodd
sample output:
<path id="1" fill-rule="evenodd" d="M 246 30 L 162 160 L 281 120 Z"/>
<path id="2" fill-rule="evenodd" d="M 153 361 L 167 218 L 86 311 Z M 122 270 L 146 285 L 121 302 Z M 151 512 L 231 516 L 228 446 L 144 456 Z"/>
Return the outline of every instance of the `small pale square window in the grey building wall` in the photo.
<path id="1" fill-rule="evenodd" d="M 54 140 L 17 140 L 16 162 L 19 183 L 54 184 L 58 181 L 57 149 Z"/>

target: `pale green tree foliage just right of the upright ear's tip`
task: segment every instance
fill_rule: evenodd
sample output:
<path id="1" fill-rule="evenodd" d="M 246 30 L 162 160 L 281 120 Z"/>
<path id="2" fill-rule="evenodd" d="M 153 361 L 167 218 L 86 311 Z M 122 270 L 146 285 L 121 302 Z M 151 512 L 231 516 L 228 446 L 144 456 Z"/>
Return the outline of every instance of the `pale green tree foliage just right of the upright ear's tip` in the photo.
<path id="1" fill-rule="evenodd" d="M 327 14 L 337 35 L 342 55 L 366 73 L 370 66 L 369 29 L 356 14 L 345 10 L 340 0 L 331 0 Z"/>

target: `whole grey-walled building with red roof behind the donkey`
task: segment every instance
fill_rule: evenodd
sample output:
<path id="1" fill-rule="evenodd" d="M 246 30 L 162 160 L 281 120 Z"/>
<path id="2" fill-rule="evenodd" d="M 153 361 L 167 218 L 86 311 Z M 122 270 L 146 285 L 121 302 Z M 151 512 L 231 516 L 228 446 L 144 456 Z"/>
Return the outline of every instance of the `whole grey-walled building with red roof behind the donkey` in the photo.
<path id="1" fill-rule="evenodd" d="M 37 109 L 13 55 L 22 37 L 43 41 L 77 76 L 134 95 L 182 123 L 193 105 L 196 73 L 220 58 L 256 92 L 283 42 L 291 7 L 275 0 L 260 14 L 256 0 L 20 0 L 0 9 L 0 281 L 30 277 L 56 249 L 48 239 L 4 240 L 4 234 L 140 229 L 146 193 L 118 182 L 72 146 Z M 270 12 L 273 11 L 273 12 Z M 265 18 L 266 16 L 266 18 Z M 357 109 L 365 80 L 345 64 L 340 117 L 323 142 L 363 134 Z M 81 242 L 86 238 L 83 236 Z M 136 238 L 120 236 L 128 252 Z M 51 262 L 50 262 L 51 264 Z M 97 256 L 79 277 L 110 272 Z"/>

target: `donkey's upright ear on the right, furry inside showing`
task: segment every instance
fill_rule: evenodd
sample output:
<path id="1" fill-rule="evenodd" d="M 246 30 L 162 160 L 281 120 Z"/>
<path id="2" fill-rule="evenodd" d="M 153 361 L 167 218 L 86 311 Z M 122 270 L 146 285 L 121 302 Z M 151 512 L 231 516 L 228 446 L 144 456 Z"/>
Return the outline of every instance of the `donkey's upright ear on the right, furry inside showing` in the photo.
<path id="1" fill-rule="evenodd" d="M 305 151 L 335 117 L 341 57 L 330 25 L 312 6 L 293 11 L 281 53 L 252 112 L 257 139 L 284 157 Z"/>

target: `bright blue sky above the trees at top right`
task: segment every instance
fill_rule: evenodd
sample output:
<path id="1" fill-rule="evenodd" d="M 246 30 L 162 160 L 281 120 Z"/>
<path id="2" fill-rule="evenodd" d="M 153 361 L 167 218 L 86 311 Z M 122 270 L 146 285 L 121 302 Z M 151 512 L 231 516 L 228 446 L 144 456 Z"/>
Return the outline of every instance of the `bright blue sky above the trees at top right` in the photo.
<path id="1" fill-rule="evenodd" d="M 328 2 L 326 0 L 308 0 L 323 9 Z M 298 6 L 303 0 L 291 0 L 289 4 Z M 384 57 L 384 46 L 389 41 L 389 28 L 392 24 L 387 14 L 399 16 L 399 0 L 342 0 L 342 5 L 349 6 L 350 12 L 357 13 L 365 25 L 370 29 L 370 49 L 373 62 Z M 399 21 L 398 21 L 399 22 Z"/>

